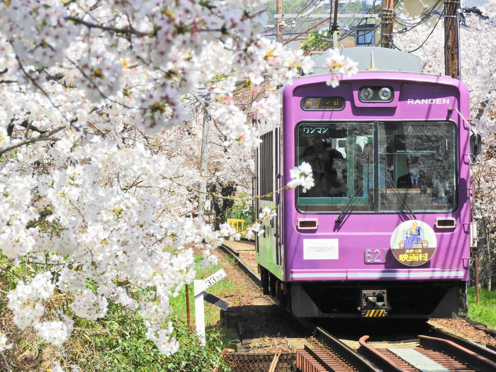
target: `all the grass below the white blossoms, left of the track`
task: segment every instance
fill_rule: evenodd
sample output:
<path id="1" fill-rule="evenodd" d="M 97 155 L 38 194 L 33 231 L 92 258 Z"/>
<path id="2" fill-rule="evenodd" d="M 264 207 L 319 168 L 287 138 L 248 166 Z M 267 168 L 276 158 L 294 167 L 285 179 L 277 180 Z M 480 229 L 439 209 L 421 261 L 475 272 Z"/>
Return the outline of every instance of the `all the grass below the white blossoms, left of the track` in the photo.
<path id="1" fill-rule="evenodd" d="M 201 256 L 196 257 L 201 260 Z M 0 269 L 7 266 L 4 256 L 0 255 Z M 197 279 L 203 279 L 209 274 L 219 270 L 221 266 L 210 267 L 199 271 Z M 32 265 L 25 267 L 24 263 L 7 268 L 0 275 L 0 289 L 8 291 L 21 279 L 24 270 L 28 274 L 34 274 Z M 96 290 L 91 281 L 87 281 L 88 288 Z M 210 287 L 209 292 L 222 297 L 227 292 L 240 292 L 236 284 L 225 278 Z M 137 295 L 153 293 L 152 289 L 139 290 Z M 194 322 L 194 286 L 190 286 L 191 321 Z M 62 308 L 65 313 L 71 315 L 70 303 L 72 296 L 62 296 L 54 300 L 57 308 Z M 8 315 L 4 318 L 11 321 L 11 315 L 5 308 L 5 295 L 0 293 L 0 313 Z M 82 371 L 95 372 L 203 372 L 212 371 L 220 363 L 219 372 L 229 371 L 229 367 L 220 360 L 220 353 L 226 347 L 233 348 L 230 341 L 237 338 L 236 334 L 229 329 L 221 329 L 218 325 L 219 309 L 205 304 L 205 320 L 207 325 L 206 346 L 202 346 L 195 335 L 186 325 L 186 294 L 183 287 L 179 296 L 171 298 L 173 312 L 170 320 L 175 324 L 173 336 L 180 341 L 179 351 L 171 356 L 161 355 L 153 342 L 145 336 L 147 331 L 138 311 L 130 311 L 118 304 L 109 303 L 105 318 L 96 321 L 88 321 L 82 318 L 74 318 L 74 332 L 63 346 L 63 354 L 52 347 L 47 348 L 48 354 L 44 352 L 43 367 L 52 366 L 53 360 L 61 360 L 62 365 L 76 364 Z M 50 307 L 51 308 L 51 307 Z M 50 310 L 50 309 L 49 309 Z M 51 310 L 50 310 L 51 311 Z M 50 312 L 49 311 L 49 312 Z M 7 312 L 7 314 L 6 314 Z M 53 314 L 52 314 L 53 315 Z M 12 325 L 10 324 L 10 328 Z M 30 336 L 29 334 L 28 336 Z M 25 337 L 25 336 L 22 336 Z M 22 350 L 36 351 L 35 347 L 28 343 L 31 337 L 17 340 L 18 353 Z M 38 351 L 45 350 L 46 345 L 38 341 L 35 345 Z M 22 348 L 22 350 L 21 350 Z M 22 354 L 24 355 L 24 354 Z M 31 371 L 24 362 L 15 360 L 15 371 Z M 41 367 L 41 365 L 40 365 Z M 1 369 L 1 367 L 0 367 Z"/>

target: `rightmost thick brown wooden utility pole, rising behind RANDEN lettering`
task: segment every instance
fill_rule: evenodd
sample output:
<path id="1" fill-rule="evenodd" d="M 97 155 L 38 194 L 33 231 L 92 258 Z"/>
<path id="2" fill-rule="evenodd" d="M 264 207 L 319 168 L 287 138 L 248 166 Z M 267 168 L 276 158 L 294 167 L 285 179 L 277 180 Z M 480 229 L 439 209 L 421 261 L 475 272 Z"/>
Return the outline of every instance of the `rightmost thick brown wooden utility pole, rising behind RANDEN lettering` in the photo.
<path id="1" fill-rule="evenodd" d="M 459 0 L 444 0 L 444 74 L 460 76 L 458 15 Z"/>

